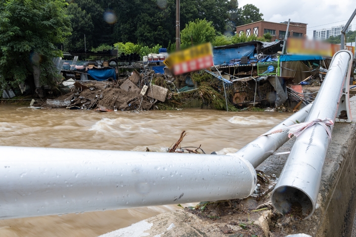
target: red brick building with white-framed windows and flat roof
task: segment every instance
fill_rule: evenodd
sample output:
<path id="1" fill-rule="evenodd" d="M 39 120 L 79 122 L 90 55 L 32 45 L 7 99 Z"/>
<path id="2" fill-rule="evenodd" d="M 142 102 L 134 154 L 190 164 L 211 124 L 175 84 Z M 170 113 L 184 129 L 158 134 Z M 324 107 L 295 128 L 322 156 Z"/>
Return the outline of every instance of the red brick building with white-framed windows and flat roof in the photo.
<path id="1" fill-rule="evenodd" d="M 269 33 L 274 40 L 284 40 L 286 35 L 288 22 L 275 23 L 269 21 L 257 21 L 250 24 L 236 27 L 236 34 L 241 36 L 246 34 L 247 37 L 255 35 L 263 37 L 264 34 Z M 300 22 L 290 22 L 288 29 L 288 37 L 303 37 L 307 34 L 307 24 Z"/>

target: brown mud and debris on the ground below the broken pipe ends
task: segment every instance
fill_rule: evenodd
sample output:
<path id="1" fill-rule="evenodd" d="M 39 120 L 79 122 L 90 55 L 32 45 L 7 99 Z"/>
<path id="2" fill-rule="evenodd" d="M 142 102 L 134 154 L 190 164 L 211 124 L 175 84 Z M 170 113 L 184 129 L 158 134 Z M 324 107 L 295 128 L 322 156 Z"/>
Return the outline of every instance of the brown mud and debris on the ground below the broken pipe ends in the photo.
<path id="1" fill-rule="evenodd" d="M 282 215 L 270 201 L 270 194 L 276 181 L 258 172 L 260 194 L 257 197 L 216 202 L 201 202 L 184 211 L 194 214 L 211 225 L 220 227 L 219 236 L 231 237 L 285 237 L 291 234 L 311 234 L 310 221 L 303 220 L 301 206 L 292 206 L 291 211 Z"/>

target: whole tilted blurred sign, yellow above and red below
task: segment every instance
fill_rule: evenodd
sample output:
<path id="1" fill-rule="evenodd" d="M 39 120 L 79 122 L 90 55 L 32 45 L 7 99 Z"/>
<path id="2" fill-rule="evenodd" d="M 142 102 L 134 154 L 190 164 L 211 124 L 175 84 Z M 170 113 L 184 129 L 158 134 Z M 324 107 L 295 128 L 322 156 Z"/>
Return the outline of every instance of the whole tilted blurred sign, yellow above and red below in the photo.
<path id="1" fill-rule="evenodd" d="M 188 73 L 214 66 L 211 43 L 204 43 L 174 52 L 163 61 L 175 75 Z"/>

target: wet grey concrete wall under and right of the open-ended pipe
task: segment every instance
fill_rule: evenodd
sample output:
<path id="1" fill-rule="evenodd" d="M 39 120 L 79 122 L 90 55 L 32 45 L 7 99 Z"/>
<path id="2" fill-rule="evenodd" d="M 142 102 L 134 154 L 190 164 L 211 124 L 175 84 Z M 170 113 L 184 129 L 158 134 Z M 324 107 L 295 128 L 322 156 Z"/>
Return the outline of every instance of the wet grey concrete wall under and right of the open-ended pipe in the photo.
<path id="1" fill-rule="evenodd" d="M 356 96 L 351 98 L 352 123 L 335 123 L 332 141 L 325 158 L 317 208 L 313 222 L 303 221 L 300 225 L 310 225 L 311 236 L 355 236 L 354 219 L 356 187 Z M 295 139 L 289 140 L 277 152 L 290 151 Z M 279 176 L 288 155 L 272 155 L 257 169 Z M 309 223 L 308 223 L 309 222 Z M 354 232 L 355 233 L 355 232 Z M 296 234 L 296 233 L 294 233 Z"/>

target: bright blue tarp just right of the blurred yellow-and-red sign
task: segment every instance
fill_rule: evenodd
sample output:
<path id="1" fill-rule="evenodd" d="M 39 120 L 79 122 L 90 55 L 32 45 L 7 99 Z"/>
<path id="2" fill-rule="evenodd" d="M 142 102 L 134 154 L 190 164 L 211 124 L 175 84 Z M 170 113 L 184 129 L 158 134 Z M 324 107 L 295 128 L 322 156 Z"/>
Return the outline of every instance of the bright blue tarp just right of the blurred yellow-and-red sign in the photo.
<path id="1" fill-rule="evenodd" d="M 254 45 L 245 45 L 237 48 L 213 49 L 214 65 L 229 63 L 231 59 L 241 59 L 243 56 L 253 57 L 254 50 Z"/>

